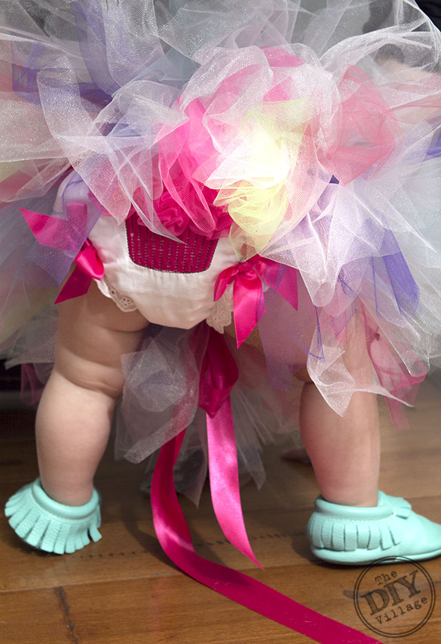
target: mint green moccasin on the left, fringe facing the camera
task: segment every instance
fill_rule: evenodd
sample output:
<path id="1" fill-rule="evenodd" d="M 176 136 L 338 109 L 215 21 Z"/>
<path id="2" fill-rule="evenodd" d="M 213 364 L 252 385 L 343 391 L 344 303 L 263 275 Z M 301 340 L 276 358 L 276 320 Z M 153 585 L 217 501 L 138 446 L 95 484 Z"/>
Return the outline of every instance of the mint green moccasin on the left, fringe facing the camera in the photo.
<path id="1" fill-rule="evenodd" d="M 101 525 L 99 494 L 94 490 L 85 505 L 70 506 L 53 501 L 40 479 L 25 485 L 6 503 L 5 514 L 18 536 L 45 552 L 64 554 L 99 541 Z"/>

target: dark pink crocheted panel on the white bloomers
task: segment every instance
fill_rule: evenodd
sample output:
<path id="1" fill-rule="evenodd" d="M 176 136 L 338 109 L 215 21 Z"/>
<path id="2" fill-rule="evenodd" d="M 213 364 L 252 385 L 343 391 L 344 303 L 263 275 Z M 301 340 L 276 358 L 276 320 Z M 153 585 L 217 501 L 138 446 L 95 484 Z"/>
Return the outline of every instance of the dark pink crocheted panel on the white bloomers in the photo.
<path id="1" fill-rule="evenodd" d="M 125 221 L 130 259 L 144 268 L 172 273 L 200 273 L 212 263 L 217 239 L 207 239 L 187 228 L 181 242 L 163 237 L 140 223 L 136 213 Z"/>

